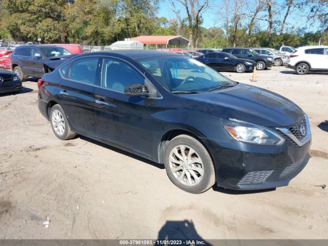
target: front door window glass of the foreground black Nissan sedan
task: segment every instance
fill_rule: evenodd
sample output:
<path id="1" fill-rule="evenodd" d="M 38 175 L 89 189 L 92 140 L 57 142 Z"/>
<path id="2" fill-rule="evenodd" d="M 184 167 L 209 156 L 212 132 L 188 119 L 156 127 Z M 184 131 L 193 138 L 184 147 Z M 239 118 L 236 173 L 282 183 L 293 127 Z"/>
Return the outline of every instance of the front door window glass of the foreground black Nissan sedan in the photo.
<path id="1" fill-rule="evenodd" d="M 151 64 L 150 67 L 154 66 Z M 153 68 L 154 69 L 154 68 Z M 123 61 L 104 59 L 101 87 L 124 92 L 131 84 L 145 84 L 145 78 Z"/>

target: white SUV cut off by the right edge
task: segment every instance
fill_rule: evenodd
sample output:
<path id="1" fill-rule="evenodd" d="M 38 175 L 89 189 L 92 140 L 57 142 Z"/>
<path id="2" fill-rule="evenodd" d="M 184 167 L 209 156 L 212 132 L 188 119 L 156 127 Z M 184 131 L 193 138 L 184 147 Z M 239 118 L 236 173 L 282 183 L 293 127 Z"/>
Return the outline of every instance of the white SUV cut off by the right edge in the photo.
<path id="1" fill-rule="evenodd" d="M 289 68 L 297 74 L 309 71 L 328 71 L 328 46 L 304 46 L 291 54 Z"/>

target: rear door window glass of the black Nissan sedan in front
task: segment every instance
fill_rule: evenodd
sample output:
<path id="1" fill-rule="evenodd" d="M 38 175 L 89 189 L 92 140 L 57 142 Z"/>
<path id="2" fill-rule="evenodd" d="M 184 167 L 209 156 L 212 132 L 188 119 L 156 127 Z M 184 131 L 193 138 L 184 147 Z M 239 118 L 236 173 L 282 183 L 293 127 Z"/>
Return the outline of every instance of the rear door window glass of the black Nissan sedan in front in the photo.
<path id="1" fill-rule="evenodd" d="M 85 58 L 73 63 L 69 78 L 86 84 L 95 84 L 98 58 Z M 63 71 L 63 70 L 62 70 Z"/>

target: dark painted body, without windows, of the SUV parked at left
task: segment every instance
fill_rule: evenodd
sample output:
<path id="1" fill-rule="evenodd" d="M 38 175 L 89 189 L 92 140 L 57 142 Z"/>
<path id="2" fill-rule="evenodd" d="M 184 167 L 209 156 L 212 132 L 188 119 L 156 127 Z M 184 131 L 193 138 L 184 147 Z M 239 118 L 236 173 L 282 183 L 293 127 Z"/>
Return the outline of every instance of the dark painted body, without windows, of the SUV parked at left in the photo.
<path id="1" fill-rule="evenodd" d="M 56 67 L 63 64 L 64 61 L 74 55 L 47 57 L 41 48 L 56 47 L 50 45 L 24 45 L 18 46 L 11 55 L 11 69 L 19 66 L 25 76 L 40 78 L 45 73 L 53 71 Z M 36 49 L 42 57 L 31 57 L 17 55 L 16 51 L 20 49 Z"/>

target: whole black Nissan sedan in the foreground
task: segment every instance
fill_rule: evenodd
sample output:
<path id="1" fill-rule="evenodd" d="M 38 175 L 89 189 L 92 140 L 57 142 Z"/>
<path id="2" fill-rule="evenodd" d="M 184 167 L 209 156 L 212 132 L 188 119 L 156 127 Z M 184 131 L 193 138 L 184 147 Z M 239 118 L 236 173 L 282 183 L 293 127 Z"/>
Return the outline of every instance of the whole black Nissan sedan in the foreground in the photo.
<path id="1" fill-rule="evenodd" d="M 84 135 L 165 165 L 201 193 L 288 185 L 309 161 L 306 114 L 187 56 L 120 50 L 73 57 L 38 80 L 54 134 Z"/>

